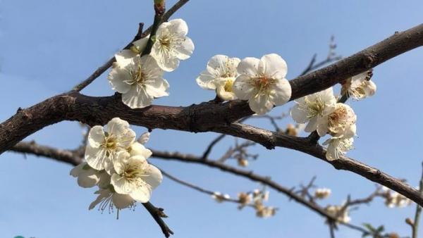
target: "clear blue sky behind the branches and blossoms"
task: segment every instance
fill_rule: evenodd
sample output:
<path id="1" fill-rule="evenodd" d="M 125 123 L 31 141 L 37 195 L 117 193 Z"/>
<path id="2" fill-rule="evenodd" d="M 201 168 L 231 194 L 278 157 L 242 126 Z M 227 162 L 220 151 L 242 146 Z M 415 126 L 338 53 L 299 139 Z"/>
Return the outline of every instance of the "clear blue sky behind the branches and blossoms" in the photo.
<path id="1" fill-rule="evenodd" d="M 152 23 L 152 1 L 0 1 L 0 119 L 6 120 L 18 107 L 27 107 L 71 89 L 102 65 L 133 38 L 137 23 Z M 168 1 L 171 6 L 175 1 Z M 314 53 L 326 57 L 331 35 L 337 52 L 349 56 L 379 42 L 395 31 L 422 23 L 423 3 L 393 0 L 347 1 L 202 1 L 192 0 L 173 18 L 183 18 L 190 27 L 195 52 L 178 70 L 166 74 L 171 96 L 155 104 L 186 106 L 214 97 L 195 83 L 195 77 L 215 54 L 244 58 L 280 54 L 288 63 L 288 79 L 298 75 Z M 421 174 L 423 113 L 420 107 L 423 49 L 398 56 L 375 68 L 376 96 L 351 102 L 358 115 L 354 151 L 349 155 L 417 186 Z M 106 74 L 83 91 L 111 95 Z M 290 105 L 276 108 L 277 115 Z M 286 125 L 289 120 L 281 122 Z M 249 123 L 271 128 L 265 121 Z M 135 127 L 137 133 L 145 131 Z M 154 130 L 148 146 L 154 149 L 201 154 L 216 134 L 193 134 Z M 59 123 L 31 135 L 41 144 L 72 149 L 78 146 L 77 123 Z M 212 153 L 219 158 L 233 138 L 228 137 Z M 286 187 L 308 182 L 330 187 L 325 203 L 341 203 L 372 192 L 374 184 L 345 171 L 334 170 L 317 158 L 288 149 L 266 151 L 255 146 L 258 161 L 250 170 Z M 235 196 L 259 184 L 219 170 L 179 162 L 154 163 L 173 175 L 202 187 Z M 115 214 L 88 211 L 94 189 L 78 187 L 69 176 L 71 166 L 45 158 L 5 153 L 0 158 L 0 237 L 162 237 L 159 227 L 142 207 Z M 277 215 L 256 218 L 254 211 L 238 211 L 233 203 L 217 204 L 204 194 L 164 180 L 152 202 L 164 207 L 174 237 L 329 237 L 324 220 L 282 194 L 271 191 L 269 205 Z M 353 223 L 386 225 L 387 230 L 410 234 L 405 218 L 410 208 L 389 209 L 381 199 L 351 214 Z M 357 237 L 343 227 L 338 237 Z M 421 235 L 423 237 L 423 235 Z"/>

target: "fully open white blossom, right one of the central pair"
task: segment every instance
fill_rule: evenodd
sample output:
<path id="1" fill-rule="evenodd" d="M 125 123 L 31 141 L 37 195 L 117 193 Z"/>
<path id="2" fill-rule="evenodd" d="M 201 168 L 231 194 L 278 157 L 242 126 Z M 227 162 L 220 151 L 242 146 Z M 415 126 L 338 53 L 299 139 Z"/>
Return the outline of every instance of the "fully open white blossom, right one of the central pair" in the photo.
<path id="1" fill-rule="evenodd" d="M 277 54 L 266 54 L 261 59 L 247 57 L 238 64 L 233 92 L 238 99 L 248 100 L 252 111 L 262 115 L 274 106 L 286 104 L 291 87 L 286 80 L 286 62 Z"/>

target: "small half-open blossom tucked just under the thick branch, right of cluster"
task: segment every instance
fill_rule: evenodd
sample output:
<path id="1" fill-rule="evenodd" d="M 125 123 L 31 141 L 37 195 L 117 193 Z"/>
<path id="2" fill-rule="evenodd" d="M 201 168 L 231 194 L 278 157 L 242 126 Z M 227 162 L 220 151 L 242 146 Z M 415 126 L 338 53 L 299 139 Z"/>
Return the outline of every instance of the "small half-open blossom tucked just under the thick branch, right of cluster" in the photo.
<path id="1" fill-rule="evenodd" d="M 372 70 L 368 70 L 351 77 L 343 84 L 343 91 L 346 90 L 348 96 L 352 96 L 355 100 L 373 96 L 376 93 L 376 84 L 371 80 L 372 75 Z"/>

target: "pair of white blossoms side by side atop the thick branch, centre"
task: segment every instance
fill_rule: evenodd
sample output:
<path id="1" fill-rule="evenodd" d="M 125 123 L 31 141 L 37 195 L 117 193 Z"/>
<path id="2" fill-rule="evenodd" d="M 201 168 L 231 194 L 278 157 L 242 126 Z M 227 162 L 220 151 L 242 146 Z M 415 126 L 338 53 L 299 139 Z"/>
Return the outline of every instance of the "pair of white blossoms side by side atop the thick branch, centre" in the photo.
<path id="1" fill-rule="evenodd" d="M 286 104 L 291 87 L 285 76 L 286 62 L 277 54 L 262 58 L 239 58 L 213 56 L 197 84 L 203 89 L 216 90 L 223 100 L 247 100 L 252 111 L 262 115 L 274 106 Z"/>

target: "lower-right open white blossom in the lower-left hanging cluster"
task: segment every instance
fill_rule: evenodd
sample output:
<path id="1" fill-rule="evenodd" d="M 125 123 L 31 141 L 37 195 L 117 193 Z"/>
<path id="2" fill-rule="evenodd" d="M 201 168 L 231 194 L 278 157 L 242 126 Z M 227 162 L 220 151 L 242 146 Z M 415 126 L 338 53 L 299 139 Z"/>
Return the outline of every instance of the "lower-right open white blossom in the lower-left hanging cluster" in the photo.
<path id="1" fill-rule="evenodd" d="M 163 180 L 160 170 L 149 165 L 144 156 L 131 156 L 127 151 L 119 152 L 114 170 L 116 173 L 111 175 L 114 190 L 141 203 L 149 201 L 152 190 Z"/>

